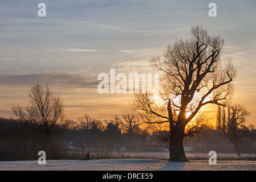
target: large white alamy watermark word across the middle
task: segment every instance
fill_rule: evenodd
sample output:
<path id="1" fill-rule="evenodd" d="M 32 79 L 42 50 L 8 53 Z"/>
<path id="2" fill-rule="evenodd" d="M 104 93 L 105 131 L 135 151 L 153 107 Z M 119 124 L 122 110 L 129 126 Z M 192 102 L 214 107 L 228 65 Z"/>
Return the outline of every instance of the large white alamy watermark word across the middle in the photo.
<path id="1" fill-rule="evenodd" d="M 159 95 L 159 74 L 158 73 L 118 73 L 110 69 L 110 76 L 100 73 L 97 80 L 101 82 L 97 86 L 98 93 L 150 93 Z M 116 81 L 118 81 L 116 83 Z M 154 82 L 154 86 L 153 86 Z M 154 87 L 154 88 L 153 88 Z"/>

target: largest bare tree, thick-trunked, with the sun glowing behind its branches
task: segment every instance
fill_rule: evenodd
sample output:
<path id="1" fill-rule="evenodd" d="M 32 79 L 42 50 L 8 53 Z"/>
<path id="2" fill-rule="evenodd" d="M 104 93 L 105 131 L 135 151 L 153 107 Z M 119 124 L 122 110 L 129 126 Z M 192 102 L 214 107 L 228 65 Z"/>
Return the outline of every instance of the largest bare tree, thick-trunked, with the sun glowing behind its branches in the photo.
<path id="1" fill-rule="evenodd" d="M 148 123 L 169 123 L 170 160 L 176 162 L 188 161 L 183 148 L 183 138 L 190 135 L 184 134 L 187 123 L 207 104 L 226 106 L 237 73 L 230 59 L 221 64 L 224 39 L 210 36 L 200 26 L 192 27 L 191 35 L 151 59 L 153 67 L 163 73 L 160 95 L 165 103 L 159 105 L 148 98 L 149 93 L 138 93 L 131 104 L 144 116 L 154 115 Z M 186 117 L 187 113 L 191 114 Z"/>

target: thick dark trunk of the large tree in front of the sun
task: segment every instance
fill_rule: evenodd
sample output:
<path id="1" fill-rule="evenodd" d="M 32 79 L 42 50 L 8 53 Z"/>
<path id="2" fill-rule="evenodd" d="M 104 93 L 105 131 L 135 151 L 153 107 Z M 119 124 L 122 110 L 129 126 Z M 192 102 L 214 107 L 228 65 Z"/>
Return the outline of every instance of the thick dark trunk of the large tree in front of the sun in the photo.
<path id="1" fill-rule="evenodd" d="M 183 147 L 183 138 L 184 138 L 184 129 L 185 127 L 174 127 L 170 134 L 170 161 L 173 162 L 188 162 L 189 160 L 185 156 L 185 151 Z"/>

